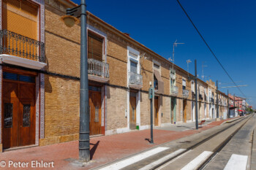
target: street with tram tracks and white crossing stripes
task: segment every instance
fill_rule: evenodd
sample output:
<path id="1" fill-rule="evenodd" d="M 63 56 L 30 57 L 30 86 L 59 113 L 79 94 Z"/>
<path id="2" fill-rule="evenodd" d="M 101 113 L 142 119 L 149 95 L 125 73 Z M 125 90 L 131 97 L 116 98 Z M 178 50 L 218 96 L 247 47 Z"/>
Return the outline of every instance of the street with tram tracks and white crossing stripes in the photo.
<path id="1" fill-rule="evenodd" d="M 99 169 L 250 169 L 255 122 L 243 117 Z"/>

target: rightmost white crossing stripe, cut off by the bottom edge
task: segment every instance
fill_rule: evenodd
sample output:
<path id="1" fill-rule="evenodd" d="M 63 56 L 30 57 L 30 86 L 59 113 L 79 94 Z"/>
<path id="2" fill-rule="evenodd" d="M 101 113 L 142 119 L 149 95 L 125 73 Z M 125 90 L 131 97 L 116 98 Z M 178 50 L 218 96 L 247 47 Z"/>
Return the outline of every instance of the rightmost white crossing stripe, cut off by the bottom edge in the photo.
<path id="1" fill-rule="evenodd" d="M 247 159 L 247 155 L 232 154 L 224 170 L 244 170 L 246 169 Z"/>

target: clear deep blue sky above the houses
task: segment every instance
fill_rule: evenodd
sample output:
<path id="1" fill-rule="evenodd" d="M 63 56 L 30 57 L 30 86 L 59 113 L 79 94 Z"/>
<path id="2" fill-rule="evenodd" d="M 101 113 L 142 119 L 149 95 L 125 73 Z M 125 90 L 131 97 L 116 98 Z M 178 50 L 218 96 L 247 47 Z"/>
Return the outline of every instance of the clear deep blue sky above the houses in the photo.
<path id="1" fill-rule="evenodd" d="M 180 0 L 190 18 L 203 34 L 206 42 L 222 62 L 223 66 L 241 87 L 249 103 L 256 106 L 256 1 L 255 0 Z M 80 0 L 75 0 L 80 4 Z M 127 32 L 146 47 L 165 58 L 173 52 L 173 42 L 178 45 L 175 63 L 194 74 L 194 60 L 197 59 L 197 74 L 211 76 L 221 82 L 219 86 L 232 85 L 231 80 L 209 52 L 200 36 L 189 23 L 176 0 L 86 0 L 87 9 L 105 22 Z M 208 80 L 208 77 L 207 77 Z M 229 83 L 229 84 L 224 84 Z M 227 93 L 227 88 L 222 89 Z M 242 96 L 237 88 L 230 93 Z"/>

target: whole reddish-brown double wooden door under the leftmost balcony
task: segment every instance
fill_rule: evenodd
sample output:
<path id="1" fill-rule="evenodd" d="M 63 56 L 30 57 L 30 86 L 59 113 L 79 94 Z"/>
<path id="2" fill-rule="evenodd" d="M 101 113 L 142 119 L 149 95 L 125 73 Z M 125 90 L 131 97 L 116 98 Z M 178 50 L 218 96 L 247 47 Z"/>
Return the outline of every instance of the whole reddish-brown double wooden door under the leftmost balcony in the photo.
<path id="1" fill-rule="evenodd" d="M 34 83 L 3 81 L 3 148 L 35 144 Z"/>

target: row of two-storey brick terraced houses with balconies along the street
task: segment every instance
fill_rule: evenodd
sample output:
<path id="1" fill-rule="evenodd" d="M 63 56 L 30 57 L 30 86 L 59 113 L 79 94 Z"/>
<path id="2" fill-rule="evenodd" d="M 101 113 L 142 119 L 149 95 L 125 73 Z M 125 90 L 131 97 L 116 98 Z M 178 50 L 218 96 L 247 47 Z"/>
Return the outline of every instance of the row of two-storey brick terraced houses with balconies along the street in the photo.
<path id="1" fill-rule="evenodd" d="M 69 0 L 0 1 L 0 151 L 78 140 L 80 26 L 61 22 Z M 195 82 L 181 67 L 87 12 L 90 133 L 227 117 L 227 98 L 211 80 Z"/>

